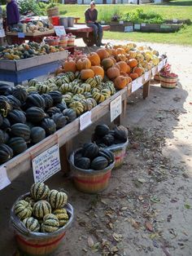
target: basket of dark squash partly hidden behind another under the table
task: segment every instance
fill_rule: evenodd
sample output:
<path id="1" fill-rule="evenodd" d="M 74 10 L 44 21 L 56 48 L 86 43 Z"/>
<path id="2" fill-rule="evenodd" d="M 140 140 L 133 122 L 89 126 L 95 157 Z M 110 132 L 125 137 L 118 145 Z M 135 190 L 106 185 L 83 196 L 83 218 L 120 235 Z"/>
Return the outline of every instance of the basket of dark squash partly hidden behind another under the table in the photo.
<path id="1" fill-rule="evenodd" d="M 107 147 L 108 150 L 113 152 L 116 159 L 116 164 L 114 166 L 114 169 L 117 169 L 120 166 L 122 166 L 124 162 L 124 157 L 126 155 L 126 149 L 128 147 L 128 144 L 129 144 L 129 140 L 127 140 L 125 143 L 120 143 L 120 144 Z"/>

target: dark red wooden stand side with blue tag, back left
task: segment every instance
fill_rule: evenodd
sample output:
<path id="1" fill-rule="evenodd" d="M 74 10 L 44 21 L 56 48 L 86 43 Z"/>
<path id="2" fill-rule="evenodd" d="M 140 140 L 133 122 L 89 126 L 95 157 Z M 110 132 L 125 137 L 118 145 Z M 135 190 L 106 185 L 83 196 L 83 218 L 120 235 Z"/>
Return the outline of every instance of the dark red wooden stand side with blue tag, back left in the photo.
<path id="1" fill-rule="evenodd" d="M 43 38 L 50 37 L 55 35 L 55 29 L 50 29 L 49 31 L 45 32 L 28 32 L 28 33 L 13 33 L 7 32 L 7 43 L 8 44 L 21 44 L 25 40 L 33 41 L 33 42 L 42 42 Z"/>

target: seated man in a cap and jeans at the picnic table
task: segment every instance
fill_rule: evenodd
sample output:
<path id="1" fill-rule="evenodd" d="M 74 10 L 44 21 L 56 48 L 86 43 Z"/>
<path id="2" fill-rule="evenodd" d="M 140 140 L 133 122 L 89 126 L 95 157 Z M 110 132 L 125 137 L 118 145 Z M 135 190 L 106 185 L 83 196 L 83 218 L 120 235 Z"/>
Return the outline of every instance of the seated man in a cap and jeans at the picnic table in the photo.
<path id="1" fill-rule="evenodd" d="M 85 23 L 88 27 L 94 29 L 94 41 L 96 46 L 104 46 L 102 42 L 103 28 L 97 22 L 98 11 L 95 9 L 95 2 L 90 2 L 90 7 L 85 11 Z"/>

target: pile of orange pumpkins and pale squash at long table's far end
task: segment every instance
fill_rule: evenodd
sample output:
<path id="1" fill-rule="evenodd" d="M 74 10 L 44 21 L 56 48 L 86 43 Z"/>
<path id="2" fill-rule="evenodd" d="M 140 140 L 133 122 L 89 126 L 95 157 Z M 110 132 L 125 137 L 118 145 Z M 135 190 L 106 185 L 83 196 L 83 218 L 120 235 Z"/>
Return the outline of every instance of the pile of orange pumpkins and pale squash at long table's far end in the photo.
<path id="1" fill-rule="evenodd" d="M 72 55 L 56 70 L 56 74 L 76 71 L 81 72 L 81 79 L 89 79 L 100 75 L 103 81 L 114 82 L 116 89 L 123 89 L 147 70 L 159 64 L 158 51 L 150 47 L 129 43 L 125 46 L 111 46 L 100 48 L 88 55 Z"/>

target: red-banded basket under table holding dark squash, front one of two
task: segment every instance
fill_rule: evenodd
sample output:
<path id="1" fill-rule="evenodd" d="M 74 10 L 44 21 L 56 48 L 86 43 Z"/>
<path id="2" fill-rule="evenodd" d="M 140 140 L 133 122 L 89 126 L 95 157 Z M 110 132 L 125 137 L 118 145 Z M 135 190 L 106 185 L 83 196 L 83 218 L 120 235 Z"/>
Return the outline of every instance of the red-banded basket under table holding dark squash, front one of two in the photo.
<path id="1" fill-rule="evenodd" d="M 81 192 L 91 194 L 102 192 L 108 186 L 115 161 L 104 170 L 82 170 L 74 165 L 74 155 L 79 150 L 77 149 L 75 152 L 72 152 L 72 155 L 69 157 L 72 177 L 76 188 Z"/>

